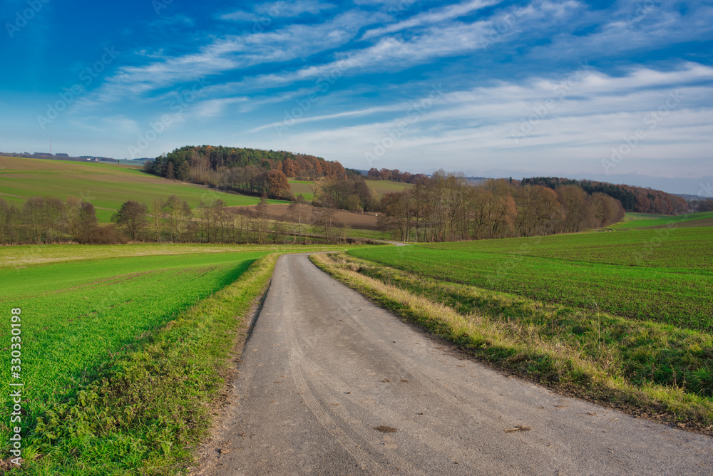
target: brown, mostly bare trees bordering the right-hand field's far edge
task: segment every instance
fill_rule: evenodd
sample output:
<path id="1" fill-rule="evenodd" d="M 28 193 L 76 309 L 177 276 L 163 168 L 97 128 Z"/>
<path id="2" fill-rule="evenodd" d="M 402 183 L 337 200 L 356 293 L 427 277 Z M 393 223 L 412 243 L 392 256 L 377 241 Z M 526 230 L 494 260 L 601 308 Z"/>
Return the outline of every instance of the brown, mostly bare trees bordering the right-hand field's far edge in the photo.
<path id="1" fill-rule="evenodd" d="M 531 237 L 605 227 L 624 217 L 621 202 L 579 185 L 522 185 L 486 180 L 469 185 L 462 174 L 439 170 L 424 184 L 381 200 L 379 223 L 395 239 L 444 242 Z"/>

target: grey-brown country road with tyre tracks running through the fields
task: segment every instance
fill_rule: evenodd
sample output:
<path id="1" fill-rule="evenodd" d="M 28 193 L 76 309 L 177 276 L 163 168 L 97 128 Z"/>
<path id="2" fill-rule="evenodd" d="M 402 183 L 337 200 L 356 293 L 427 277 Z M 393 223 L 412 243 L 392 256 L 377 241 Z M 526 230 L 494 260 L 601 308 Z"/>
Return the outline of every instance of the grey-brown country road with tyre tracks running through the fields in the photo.
<path id="1" fill-rule="evenodd" d="M 713 438 L 508 378 L 279 259 L 201 474 L 711 475 Z"/>

